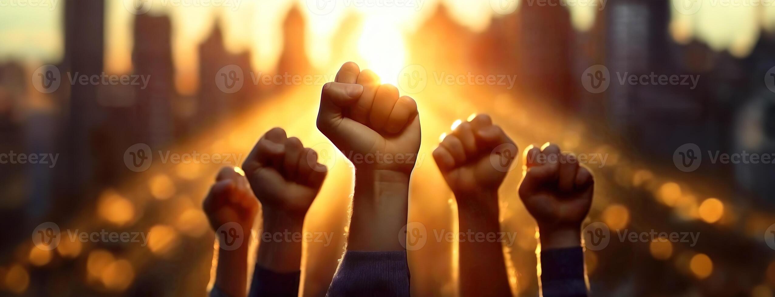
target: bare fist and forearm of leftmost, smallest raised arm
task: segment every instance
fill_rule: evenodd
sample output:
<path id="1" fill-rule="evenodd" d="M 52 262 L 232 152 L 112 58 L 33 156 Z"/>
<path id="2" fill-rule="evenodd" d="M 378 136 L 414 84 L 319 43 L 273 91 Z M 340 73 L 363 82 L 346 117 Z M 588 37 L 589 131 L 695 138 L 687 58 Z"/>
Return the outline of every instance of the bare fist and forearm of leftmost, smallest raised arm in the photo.
<path id="1" fill-rule="evenodd" d="M 248 234 L 258 211 L 258 200 L 253 196 L 245 176 L 237 173 L 232 167 L 225 167 L 218 173 L 202 208 L 212 230 L 218 230 L 223 224 L 236 222 L 242 226 L 243 232 Z M 230 296 L 245 295 L 247 252 L 247 244 L 242 244 L 233 251 L 219 251 L 215 286 L 222 292 Z"/>

